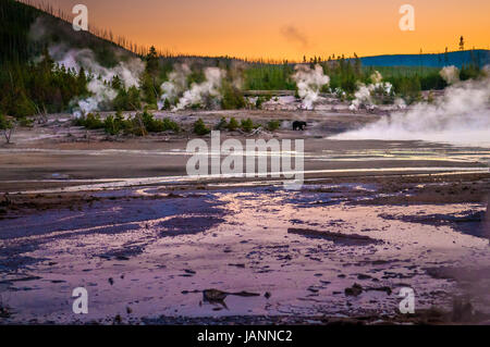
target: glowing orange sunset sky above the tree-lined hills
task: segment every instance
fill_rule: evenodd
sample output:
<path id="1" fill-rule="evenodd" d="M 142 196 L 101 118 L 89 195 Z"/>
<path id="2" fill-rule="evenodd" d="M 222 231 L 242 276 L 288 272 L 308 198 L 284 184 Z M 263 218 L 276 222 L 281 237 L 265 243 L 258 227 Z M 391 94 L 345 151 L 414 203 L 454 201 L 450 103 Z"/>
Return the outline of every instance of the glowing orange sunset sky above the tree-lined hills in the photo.
<path id="1" fill-rule="evenodd" d="M 332 53 L 443 52 L 489 48 L 489 0 L 48 0 L 89 23 L 174 53 L 301 60 Z M 415 8 L 415 32 L 402 32 L 402 4 Z"/>

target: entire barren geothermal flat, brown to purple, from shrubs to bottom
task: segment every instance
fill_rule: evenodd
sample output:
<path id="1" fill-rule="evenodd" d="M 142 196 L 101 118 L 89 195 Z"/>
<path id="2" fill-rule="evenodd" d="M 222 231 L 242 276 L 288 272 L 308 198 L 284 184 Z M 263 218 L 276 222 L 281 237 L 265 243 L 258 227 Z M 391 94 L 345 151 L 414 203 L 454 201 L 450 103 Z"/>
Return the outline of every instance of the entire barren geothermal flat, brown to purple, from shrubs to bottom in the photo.
<path id="1" fill-rule="evenodd" d="M 309 116 L 259 135 L 307 139 L 299 190 L 187 179 L 186 134 L 21 129 L 0 150 L 0 323 L 489 324 L 489 150 L 333 141 L 352 119 Z"/>

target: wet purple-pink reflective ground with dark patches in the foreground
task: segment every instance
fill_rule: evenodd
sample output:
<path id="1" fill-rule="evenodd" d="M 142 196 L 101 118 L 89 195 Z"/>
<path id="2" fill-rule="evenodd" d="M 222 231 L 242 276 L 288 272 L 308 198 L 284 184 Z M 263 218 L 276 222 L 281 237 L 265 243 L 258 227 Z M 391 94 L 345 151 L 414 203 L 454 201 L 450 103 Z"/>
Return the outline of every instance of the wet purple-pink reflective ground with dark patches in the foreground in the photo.
<path id="1" fill-rule="evenodd" d="M 4 321 L 396 314 L 407 286 L 417 309 L 444 308 L 470 292 L 488 311 L 488 239 L 408 218 L 480 215 L 486 206 L 356 202 L 378 190 L 138 187 L 96 193 L 105 199 L 77 210 L 0 221 L 0 295 L 12 312 Z M 470 281 L 454 280 L 468 269 Z M 87 315 L 72 312 L 71 294 L 81 286 Z M 231 295 L 240 293 L 253 295 Z"/>

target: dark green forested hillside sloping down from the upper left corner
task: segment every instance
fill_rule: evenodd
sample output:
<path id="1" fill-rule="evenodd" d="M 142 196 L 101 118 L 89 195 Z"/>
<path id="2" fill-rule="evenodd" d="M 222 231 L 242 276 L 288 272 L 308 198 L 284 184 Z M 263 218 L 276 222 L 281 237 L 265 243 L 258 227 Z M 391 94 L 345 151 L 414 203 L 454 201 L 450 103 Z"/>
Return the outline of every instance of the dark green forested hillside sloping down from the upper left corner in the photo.
<path id="1" fill-rule="evenodd" d="M 0 1 L 0 112 L 25 116 L 69 109 L 74 97 L 88 94 L 85 71 L 57 66 L 48 47 L 89 48 L 99 64 L 114 66 L 134 53 L 71 24 L 14 0 Z"/>

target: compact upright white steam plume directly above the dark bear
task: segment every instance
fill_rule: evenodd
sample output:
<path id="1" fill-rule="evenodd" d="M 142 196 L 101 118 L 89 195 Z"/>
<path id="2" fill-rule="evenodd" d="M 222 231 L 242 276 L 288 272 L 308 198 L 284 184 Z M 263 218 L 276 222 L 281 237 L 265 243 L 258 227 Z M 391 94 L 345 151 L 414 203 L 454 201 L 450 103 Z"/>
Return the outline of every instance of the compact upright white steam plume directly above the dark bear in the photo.
<path id="1" fill-rule="evenodd" d="M 302 108 L 313 110 L 322 86 L 330 83 L 330 77 L 323 74 L 320 65 L 309 69 L 308 65 L 296 65 L 293 79 L 296 82 L 297 94 L 302 98 Z"/>

